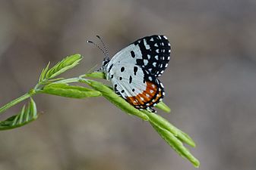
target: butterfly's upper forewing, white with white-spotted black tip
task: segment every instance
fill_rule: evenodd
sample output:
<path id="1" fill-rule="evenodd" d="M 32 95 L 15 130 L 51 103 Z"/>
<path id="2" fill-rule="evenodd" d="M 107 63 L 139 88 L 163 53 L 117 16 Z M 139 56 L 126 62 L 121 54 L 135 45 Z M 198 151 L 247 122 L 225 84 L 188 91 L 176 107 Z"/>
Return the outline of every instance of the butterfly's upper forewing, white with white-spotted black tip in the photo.
<path id="1" fill-rule="evenodd" d="M 112 62 L 136 64 L 159 77 L 168 66 L 170 52 L 171 47 L 166 36 L 146 36 L 115 54 Z"/>

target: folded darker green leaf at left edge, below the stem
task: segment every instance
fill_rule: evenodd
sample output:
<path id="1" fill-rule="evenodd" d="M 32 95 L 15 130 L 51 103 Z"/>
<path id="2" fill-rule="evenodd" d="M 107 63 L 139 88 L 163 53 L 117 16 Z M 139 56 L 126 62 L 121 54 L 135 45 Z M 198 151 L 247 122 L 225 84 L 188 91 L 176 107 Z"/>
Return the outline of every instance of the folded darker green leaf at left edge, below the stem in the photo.
<path id="1" fill-rule="evenodd" d="M 21 113 L 11 116 L 8 119 L 0 122 L 0 130 L 7 130 L 11 128 L 21 127 L 29 122 L 37 119 L 36 103 L 30 97 L 28 106 L 22 107 Z"/>

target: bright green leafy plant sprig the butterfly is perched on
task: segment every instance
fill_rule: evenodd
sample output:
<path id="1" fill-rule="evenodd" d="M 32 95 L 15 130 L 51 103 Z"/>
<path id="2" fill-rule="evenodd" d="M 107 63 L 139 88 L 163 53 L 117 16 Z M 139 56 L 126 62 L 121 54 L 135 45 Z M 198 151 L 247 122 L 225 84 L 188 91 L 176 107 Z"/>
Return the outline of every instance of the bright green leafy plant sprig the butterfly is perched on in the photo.
<path id="1" fill-rule="evenodd" d="M 155 113 L 150 113 L 147 110 L 137 110 L 132 107 L 128 102 L 126 102 L 122 97 L 119 97 L 115 92 L 107 85 L 102 82 L 97 82 L 88 78 L 105 79 L 104 73 L 87 73 L 74 78 L 64 79 L 56 78 L 61 73 L 72 69 L 82 59 L 80 54 L 74 54 L 69 57 L 65 57 L 62 61 L 49 68 L 49 63 L 46 68 L 43 69 L 38 83 L 29 92 L 15 100 L 12 100 L 5 106 L 0 108 L 0 114 L 4 113 L 10 107 L 15 104 L 20 103 L 27 98 L 30 98 L 29 104 L 24 105 L 21 109 L 21 113 L 11 116 L 8 119 L 0 122 L 0 130 L 7 130 L 11 128 L 17 128 L 26 125 L 29 122 L 37 119 L 39 114 L 36 111 L 36 103 L 33 101 L 33 95 L 35 94 L 53 94 L 62 97 L 72 97 L 72 98 L 85 98 L 85 97 L 106 97 L 112 104 L 119 107 L 128 115 L 137 116 L 144 121 L 150 122 L 153 128 L 158 134 L 172 147 L 180 156 L 188 159 L 195 167 L 200 165 L 198 159 L 189 152 L 189 150 L 184 146 L 188 144 L 191 147 L 195 147 L 194 141 L 185 134 L 185 132 L 175 128 L 174 125 L 170 124 L 163 117 L 156 115 Z M 70 85 L 74 82 L 81 82 L 87 84 L 90 88 L 78 85 Z M 157 108 L 163 110 L 167 113 L 170 112 L 169 107 L 163 102 L 156 105 Z"/>

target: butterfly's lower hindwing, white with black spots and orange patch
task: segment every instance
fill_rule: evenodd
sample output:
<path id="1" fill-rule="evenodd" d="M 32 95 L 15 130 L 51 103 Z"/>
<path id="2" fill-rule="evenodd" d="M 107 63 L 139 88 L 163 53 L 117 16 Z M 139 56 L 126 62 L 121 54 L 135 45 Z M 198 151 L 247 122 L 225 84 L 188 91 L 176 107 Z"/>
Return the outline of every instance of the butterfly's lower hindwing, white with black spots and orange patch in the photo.
<path id="1" fill-rule="evenodd" d="M 162 83 L 141 66 L 117 64 L 109 72 L 115 92 L 137 109 L 151 109 L 164 96 Z"/>

